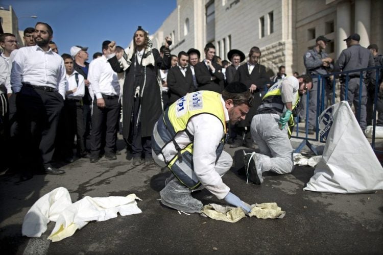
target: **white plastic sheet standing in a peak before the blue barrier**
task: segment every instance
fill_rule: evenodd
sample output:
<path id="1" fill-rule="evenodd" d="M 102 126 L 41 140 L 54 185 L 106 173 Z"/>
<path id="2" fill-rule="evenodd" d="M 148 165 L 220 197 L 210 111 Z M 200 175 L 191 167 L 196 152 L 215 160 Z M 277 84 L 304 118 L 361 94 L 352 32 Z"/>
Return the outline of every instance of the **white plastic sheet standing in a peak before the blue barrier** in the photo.
<path id="1" fill-rule="evenodd" d="M 324 110 L 319 129 L 326 145 L 303 190 L 345 194 L 383 189 L 383 168 L 347 101 Z"/>

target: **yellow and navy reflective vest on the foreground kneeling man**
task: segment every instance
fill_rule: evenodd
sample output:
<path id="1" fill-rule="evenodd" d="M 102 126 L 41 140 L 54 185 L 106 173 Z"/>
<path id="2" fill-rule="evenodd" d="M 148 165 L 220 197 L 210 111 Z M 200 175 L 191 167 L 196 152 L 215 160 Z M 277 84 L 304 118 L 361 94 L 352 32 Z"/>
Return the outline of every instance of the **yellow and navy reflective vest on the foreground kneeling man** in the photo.
<path id="1" fill-rule="evenodd" d="M 162 149 L 173 143 L 178 153 L 166 162 L 167 167 L 177 179 L 190 189 L 200 185 L 193 167 L 193 136 L 187 132 L 187 123 L 190 118 L 199 114 L 211 114 L 220 119 L 224 136 L 216 149 L 217 160 L 221 156 L 225 144 L 226 122 L 225 112 L 221 103 L 221 94 L 212 91 L 197 91 L 186 94 L 172 104 L 161 115 L 154 126 L 152 148 L 156 155 L 162 154 Z M 186 132 L 190 143 L 181 149 L 175 141 L 179 132 Z M 164 155 L 162 154 L 163 158 Z"/>

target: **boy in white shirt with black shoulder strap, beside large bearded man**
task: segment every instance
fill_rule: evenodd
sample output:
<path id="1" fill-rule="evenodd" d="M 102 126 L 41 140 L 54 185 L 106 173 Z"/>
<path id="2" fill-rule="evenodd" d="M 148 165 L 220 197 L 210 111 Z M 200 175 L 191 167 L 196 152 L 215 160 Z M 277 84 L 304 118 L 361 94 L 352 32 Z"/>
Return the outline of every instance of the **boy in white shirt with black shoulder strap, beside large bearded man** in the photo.
<path id="1" fill-rule="evenodd" d="M 58 151 L 62 159 L 74 161 L 73 141 L 77 137 L 77 155 L 85 153 L 84 116 L 82 97 L 85 94 L 84 77 L 74 69 L 73 58 L 69 54 L 61 55 L 66 70 L 66 86 L 64 107 L 60 115 L 58 131 Z"/>

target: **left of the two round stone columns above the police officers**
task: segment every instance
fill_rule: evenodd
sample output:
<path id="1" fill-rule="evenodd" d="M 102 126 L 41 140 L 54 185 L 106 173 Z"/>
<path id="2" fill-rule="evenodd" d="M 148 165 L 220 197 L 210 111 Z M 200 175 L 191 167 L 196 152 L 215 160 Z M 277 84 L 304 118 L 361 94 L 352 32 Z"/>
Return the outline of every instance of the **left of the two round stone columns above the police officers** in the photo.
<path id="1" fill-rule="evenodd" d="M 336 58 L 339 57 L 342 50 L 347 48 L 346 39 L 351 33 L 351 3 L 349 1 L 341 2 L 337 5 L 337 29 L 336 29 Z"/>

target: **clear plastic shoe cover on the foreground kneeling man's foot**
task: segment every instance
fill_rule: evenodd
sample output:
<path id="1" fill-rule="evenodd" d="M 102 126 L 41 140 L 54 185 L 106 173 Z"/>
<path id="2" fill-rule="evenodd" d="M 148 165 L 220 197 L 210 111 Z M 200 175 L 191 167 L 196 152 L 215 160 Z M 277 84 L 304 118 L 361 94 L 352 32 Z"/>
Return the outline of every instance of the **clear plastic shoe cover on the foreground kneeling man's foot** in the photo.
<path id="1" fill-rule="evenodd" d="M 167 207 L 185 213 L 200 213 L 203 204 L 190 193 L 191 191 L 187 187 L 174 179 L 160 191 L 161 202 Z"/>

